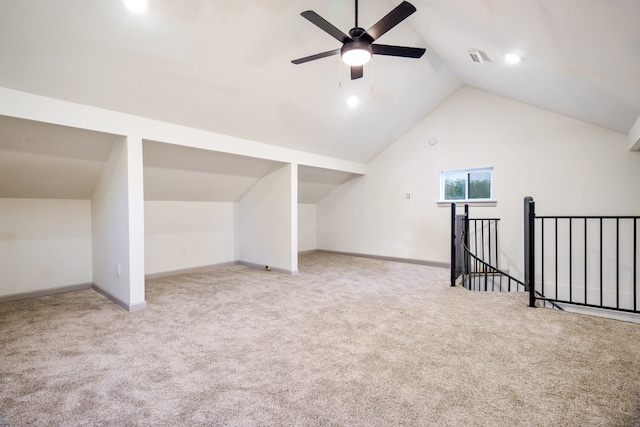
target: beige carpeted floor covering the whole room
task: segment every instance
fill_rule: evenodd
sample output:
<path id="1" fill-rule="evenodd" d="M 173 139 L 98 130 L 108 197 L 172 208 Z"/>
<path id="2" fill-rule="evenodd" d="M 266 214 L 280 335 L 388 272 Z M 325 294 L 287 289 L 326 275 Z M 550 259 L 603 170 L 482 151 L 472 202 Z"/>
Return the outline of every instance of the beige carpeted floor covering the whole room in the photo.
<path id="1" fill-rule="evenodd" d="M 638 426 L 640 325 L 310 254 L 0 304 L 0 426 Z"/>

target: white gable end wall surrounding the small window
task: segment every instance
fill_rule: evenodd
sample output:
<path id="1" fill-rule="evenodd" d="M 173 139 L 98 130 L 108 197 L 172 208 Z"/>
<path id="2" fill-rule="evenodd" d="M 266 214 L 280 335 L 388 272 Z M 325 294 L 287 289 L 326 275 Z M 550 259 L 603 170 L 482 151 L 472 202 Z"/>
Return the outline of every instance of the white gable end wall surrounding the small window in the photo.
<path id="1" fill-rule="evenodd" d="M 429 142 L 431 141 L 431 143 Z M 493 167 L 502 266 L 523 264 L 523 198 L 539 214 L 640 213 L 640 155 L 625 135 L 463 88 L 318 204 L 318 249 L 449 261 L 439 173 Z"/>

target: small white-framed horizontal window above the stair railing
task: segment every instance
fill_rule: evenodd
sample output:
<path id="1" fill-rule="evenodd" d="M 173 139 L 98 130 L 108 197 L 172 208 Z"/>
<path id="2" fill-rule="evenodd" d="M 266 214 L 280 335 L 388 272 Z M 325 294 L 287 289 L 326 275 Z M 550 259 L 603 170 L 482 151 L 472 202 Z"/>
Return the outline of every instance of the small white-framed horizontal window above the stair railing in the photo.
<path id="1" fill-rule="evenodd" d="M 493 200 L 493 168 L 440 172 L 440 200 L 443 202 L 485 202 Z"/>

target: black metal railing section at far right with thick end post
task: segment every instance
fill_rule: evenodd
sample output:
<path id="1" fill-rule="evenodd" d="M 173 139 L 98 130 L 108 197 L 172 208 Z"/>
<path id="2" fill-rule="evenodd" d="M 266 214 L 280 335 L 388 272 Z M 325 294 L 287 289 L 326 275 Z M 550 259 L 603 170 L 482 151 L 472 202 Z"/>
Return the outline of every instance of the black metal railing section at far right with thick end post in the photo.
<path id="1" fill-rule="evenodd" d="M 640 314 L 640 216 L 537 216 L 532 198 L 527 211 L 535 300 Z"/>

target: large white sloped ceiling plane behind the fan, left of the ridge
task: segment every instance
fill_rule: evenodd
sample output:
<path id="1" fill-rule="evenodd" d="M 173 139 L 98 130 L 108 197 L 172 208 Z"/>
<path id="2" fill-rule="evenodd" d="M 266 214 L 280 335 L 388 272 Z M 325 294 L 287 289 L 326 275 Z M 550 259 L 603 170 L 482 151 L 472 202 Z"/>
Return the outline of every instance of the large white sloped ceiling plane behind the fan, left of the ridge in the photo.
<path id="1" fill-rule="evenodd" d="M 363 25 L 392 5 L 362 2 Z M 3 1 L 0 86 L 360 162 L 461 86 L 435 55 L 376 58 L 354 82 L 338 57 L 293 65 L 339 47 L 300 16 L 311 8 L 353 25 L 350 1 L 150 0 L 144 16 L 117 0 Z M 384 42 L 424 46 L 405 24 Z"/>

